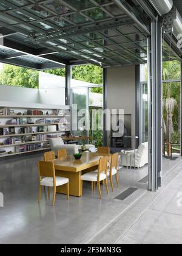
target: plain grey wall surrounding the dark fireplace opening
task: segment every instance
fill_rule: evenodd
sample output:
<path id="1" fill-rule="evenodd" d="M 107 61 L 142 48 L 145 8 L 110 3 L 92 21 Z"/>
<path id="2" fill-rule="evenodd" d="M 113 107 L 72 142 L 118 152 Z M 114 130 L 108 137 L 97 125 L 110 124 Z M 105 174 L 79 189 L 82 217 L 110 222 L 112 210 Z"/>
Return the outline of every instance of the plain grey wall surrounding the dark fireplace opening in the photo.
<path id="1" fill-rule="evenodd" d="M 107 108 L 124 109 L 132 115 L 132 135 L 135 135 L 135 66 L 107 69 Z M 110 146 L 110 132 L 107 141 Z"/>

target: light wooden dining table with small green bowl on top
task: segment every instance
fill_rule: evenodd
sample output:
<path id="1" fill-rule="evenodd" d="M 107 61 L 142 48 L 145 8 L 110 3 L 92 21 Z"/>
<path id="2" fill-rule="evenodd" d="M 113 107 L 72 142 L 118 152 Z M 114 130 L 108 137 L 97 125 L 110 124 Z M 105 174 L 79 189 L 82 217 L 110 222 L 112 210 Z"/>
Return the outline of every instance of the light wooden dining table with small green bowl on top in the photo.
<path id="1" fill-rule="evenodd" d="M 99 159 L 104 156 L 110 157 L 111 155 L 84 152 L 80 160 L 75 160 L 73 156 L 56 159 L 54 161 L 56 176 L 69 179 L 71 196 L 81 196 L 81 176 L 98 169 Z M 56 188 L 56 193 L 66 194 L 66 191 L 66 185 Z"/>

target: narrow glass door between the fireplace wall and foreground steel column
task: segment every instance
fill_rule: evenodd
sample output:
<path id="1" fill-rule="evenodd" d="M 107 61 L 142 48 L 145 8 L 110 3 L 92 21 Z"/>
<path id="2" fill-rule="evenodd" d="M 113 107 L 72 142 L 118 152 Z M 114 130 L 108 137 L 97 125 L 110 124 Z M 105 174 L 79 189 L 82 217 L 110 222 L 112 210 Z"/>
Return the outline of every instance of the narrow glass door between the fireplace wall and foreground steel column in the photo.
<path id="1" fill-rule="evenodd" d="M 140 85 L 140 97 L 141 97 L 141 113 L 140 113 L 140 143 L 147 142 L 149 140 L 148 133 L 148 85 Z"/>

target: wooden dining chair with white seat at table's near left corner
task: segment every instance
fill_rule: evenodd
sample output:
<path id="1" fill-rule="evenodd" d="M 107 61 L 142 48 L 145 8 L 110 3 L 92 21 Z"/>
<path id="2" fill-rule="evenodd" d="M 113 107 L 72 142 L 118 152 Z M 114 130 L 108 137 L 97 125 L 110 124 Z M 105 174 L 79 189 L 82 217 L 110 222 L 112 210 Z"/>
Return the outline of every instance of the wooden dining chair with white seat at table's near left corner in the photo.
<path id="1" fill-rule="evenodd" d="M 44 177 L 42 179 L 42 177 Z M 69 179 L 55 176 L 55 166 L 52 161 L 39 161 L 39 204 L 41 202 L 42 186 L 53 187 L 52 204 L 55 205 L 56 187 L 67 185 L 67 199 L 69 200 Z"/>

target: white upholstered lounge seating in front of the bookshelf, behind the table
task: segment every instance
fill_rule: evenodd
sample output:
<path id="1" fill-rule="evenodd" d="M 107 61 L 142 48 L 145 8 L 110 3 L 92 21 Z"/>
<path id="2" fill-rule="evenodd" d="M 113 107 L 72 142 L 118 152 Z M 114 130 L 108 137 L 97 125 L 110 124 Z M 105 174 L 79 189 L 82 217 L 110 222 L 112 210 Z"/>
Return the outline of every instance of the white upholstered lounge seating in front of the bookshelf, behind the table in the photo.
<path id="1" fill-rule="evenodd" d="M 76 144 L 64 144 L 62 138 L 50 138 L 49 143 L 50 148 L 55 152 L 55 155 L 57 155 L 59 149 L 66 149 L 67 155 L 78 154 L 78 146 Z"/>

